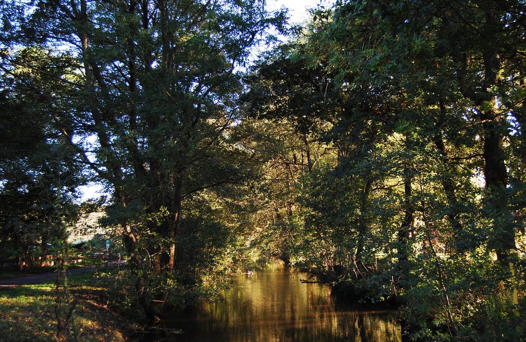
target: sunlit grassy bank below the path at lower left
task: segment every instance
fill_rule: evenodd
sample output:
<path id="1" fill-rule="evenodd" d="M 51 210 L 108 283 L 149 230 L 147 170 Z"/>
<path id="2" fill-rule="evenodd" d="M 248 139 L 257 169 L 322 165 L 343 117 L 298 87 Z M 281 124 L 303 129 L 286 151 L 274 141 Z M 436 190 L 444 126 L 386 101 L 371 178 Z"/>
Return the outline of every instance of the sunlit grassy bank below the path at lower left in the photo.
<path id="1" fill-rule="evenodd" d="M 2 341 L 54 341 L 54 283 L 0 287 Z M 134 334 L 133 325 L 112 312 L 91 273 L 70 279 L 76 299 L 75 326 L 80 341 L 124 341 Z"/>

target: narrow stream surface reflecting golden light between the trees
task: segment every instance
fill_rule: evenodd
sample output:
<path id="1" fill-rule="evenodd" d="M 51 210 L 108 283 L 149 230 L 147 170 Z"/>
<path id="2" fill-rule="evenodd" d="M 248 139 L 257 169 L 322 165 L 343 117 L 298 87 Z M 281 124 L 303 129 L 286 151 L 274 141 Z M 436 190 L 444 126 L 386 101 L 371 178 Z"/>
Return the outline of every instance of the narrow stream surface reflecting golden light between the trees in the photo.
<path id="1" fill-rule="evenodd" d="M 400 341 L 392 312 L 338 305 L 330 287 L 304 284 L 284 267 L 238 275 L 224 298 L 167 325 L 174 341 Z M 164 336 L 166 338 L 166 336 Z"/>

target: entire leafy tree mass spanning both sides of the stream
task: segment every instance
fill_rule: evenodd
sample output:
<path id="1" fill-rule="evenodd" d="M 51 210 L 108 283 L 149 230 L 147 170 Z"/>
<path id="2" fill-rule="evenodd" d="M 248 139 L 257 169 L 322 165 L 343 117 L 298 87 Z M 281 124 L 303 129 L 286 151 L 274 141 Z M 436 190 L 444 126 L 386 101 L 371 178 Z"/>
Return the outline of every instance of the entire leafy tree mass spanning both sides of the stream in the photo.
<path id="1" fill-rule="evenodd" d="M 251 66 L 284 30 L 264 1 L 1 4 L 19 253 L 93 181 L 130 267 L 112 286 L 147 317 L 256 247 L 401 304 L 414 339 L 526 338 L 523 2 L 341 0 Z"/>

